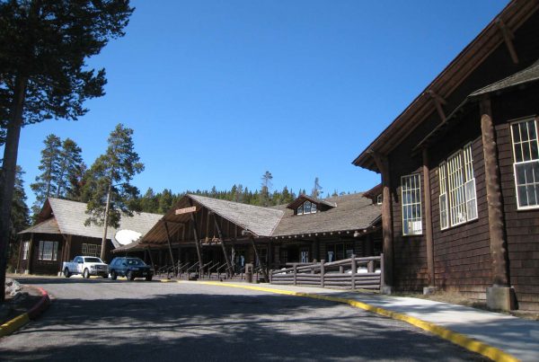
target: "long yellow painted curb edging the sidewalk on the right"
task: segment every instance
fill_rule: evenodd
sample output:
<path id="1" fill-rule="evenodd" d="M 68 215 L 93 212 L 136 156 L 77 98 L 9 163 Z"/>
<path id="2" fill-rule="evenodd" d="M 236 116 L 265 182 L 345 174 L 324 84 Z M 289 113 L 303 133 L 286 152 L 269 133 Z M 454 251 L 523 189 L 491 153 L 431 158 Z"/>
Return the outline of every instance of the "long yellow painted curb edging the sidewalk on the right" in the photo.
<path id="1" fill-rule="evenodd" d="M 494 361 L 500 361 L 500 362 L 519 361 L 518 358 L 515 358 L 509 355 L 508 353 L 504 352 L 501 349 L 497 349 L 496 347 L 489 346 L 488 344 L 483 343 L 479 340 L 473 340 L 470 337 L 464 336 L 464 334 L 457 333 L 455 331 L 450 331 L 444 327 L 440 327 L 439 325 L 436 325 L 431 322 L 422 321 L 418 318 L 411 317 L 410 315 L 388 311 L 384 308 L 380 308 L 374 305 L 367 305 L 366 303 L 358 302 L 357 300 L 353 300 L 353 299 L 340 298 L 336 296 L 321 296 L 321 295 L 310 294 L 310 293 L 292 292 L 290 290 L 274 289 L 270 287 L 241 286 L 238 284 L 229 284 L 229 283 L 213 282 L 213 281 L 195 282 L 195 283 L 206 284 L 210 286 L 237 287 L 241 289 L 258 290 L 261 292 L 270 292 L 270 293 L 281 294 L 281 295 L 286 295 L 286 296 L 304 296 L 307 298 L 321 299 L 321 300 L 327 300 L 331 302 L 342 303 L 345 305 L 351 305 L 355 308 L 363 309 L 368 312 L 377 313 L 380 315 L 384 315 L 385 317 L 389 317 L 389 318 L 393 318 L 402 322 L 410 323 L 411 325 L 414 325 L 424 331 L 429 331 L 433 334 L 436 334 L 438 337 L 441 337 L 444 340 L 449 340 L 450 342 L 453 342 L 456 345 L 463 347 L 464 349 L 468 349 L 472 352 L 479 353 L 480 355 L 490 358 Z"/>

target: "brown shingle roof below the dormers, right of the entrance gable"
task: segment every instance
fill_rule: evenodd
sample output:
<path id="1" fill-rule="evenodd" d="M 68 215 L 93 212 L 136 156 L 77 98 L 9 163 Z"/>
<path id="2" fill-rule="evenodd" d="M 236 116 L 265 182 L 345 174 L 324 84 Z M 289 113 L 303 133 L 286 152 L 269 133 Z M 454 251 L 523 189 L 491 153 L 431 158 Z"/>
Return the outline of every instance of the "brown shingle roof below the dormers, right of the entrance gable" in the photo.
<path id="1" fill-rule="evenodd" d="M 362 230 L 373 225 L 382 213 L 380 205 L 373 205 L 363 193 L 343 195 L 331 199 L 337 207 L 307 215 L 294 215 L 285 209 L 285 216 L 271 236 L 326 233 L 345 230 Z"/>

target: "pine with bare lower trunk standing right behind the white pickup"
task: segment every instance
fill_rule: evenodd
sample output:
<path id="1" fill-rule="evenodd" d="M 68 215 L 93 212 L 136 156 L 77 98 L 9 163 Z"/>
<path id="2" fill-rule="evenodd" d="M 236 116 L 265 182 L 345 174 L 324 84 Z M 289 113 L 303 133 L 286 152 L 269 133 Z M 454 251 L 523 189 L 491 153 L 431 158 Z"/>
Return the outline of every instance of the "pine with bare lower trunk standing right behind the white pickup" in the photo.
<path id="1" fill-rule="evenodd" d="M 93 163 L 84 193 L 88 195 L 86 225 L 104 225 L 101 258 L 105 258 L 107 227 L 119 226 L 121 213 L 133 216 L 139 211 L 138 189 L 131 185 L 133 177 L 144 170 L 135 152 L 133 129 L 121 123 L 110 133 L 104 155 Z"/>

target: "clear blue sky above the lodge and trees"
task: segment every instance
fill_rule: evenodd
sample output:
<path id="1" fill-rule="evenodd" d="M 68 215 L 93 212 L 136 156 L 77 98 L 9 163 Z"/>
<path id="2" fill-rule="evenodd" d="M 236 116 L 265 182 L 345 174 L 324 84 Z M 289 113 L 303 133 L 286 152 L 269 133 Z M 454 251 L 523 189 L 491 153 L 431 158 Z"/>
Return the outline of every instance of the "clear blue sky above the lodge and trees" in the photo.
<path id="1" fill-rule="evenodd" d="M 379 175 L 351 161 L 508 0 L 134 1 L 124 38 L 89 60 L 106 95 L 78 121 L 22 130 L 29 184 L 43 139 L 71 137 L 91 164 L 121 122 L 146 171 L 145 192 L 242 183 L 368 190 Z M 325 195 L 325 194 L 324 194 Z"/>

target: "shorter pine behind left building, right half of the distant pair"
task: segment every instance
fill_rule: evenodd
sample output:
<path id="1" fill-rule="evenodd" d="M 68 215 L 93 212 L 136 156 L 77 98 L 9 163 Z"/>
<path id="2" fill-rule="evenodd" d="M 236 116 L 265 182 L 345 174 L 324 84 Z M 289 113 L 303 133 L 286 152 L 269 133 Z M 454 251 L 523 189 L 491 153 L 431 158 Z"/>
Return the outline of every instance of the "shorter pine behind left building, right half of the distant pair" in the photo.
<path id="1" fill-rule="evenodd" d="M 57 170 L 57 193 L 56 197 L 66 199 L 67 192 L 72 180 L 80 176 L 83 167 L 82 149 L 77 146 L 71 138 L 66 138 L 62 142 Z"/>

